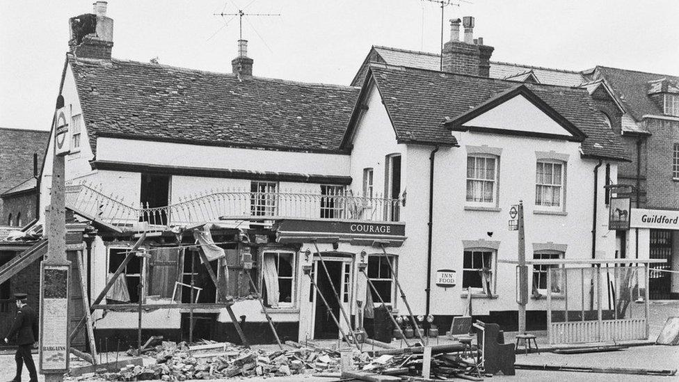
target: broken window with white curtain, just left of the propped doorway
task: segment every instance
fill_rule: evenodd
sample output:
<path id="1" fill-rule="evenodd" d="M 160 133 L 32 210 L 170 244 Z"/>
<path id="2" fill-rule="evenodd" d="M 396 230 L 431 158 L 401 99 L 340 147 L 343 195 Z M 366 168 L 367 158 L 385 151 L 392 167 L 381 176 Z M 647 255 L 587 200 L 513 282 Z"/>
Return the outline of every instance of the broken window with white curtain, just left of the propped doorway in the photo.
<path id="1" fill-rule="evenodd" d="M 262 298 L 273 308 L 294 305 L 295 254 L 264 252 L 262 256 Z"/>

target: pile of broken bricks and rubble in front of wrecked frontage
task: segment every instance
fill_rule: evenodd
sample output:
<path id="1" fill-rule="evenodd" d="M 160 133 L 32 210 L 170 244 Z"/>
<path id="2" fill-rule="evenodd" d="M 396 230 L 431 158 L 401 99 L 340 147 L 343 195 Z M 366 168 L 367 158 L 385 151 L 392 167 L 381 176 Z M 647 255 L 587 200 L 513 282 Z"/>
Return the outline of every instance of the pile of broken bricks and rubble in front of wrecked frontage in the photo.
<path id="1" fill-rule="evenodd" d="M 298 346 L 267 353 L 227 342 L 208 342 L 191 347 L 184 342 L 163 342 L 154 349 L 154 364 L 143 367 L 129 365 L 122 367 L 120 372 L 99 376 L 109 381 L 186 381 L 234 376 L 289 376 L 307 370 L 339 372 L 340 353 L 337 351 Z M 354 356 L 358 362 L 368 361 L 366 354 L 357 352 Z"/>

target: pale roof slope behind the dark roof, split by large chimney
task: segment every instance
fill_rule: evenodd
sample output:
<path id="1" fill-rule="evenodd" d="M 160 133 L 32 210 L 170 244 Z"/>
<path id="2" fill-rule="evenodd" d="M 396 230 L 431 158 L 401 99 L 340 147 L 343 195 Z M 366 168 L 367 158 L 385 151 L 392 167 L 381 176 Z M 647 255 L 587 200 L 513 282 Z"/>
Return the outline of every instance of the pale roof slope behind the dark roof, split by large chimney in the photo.
<path id="1" fill-rule="evenodd" d="M 419 67 L 420 69 L 440 70 L 440 55 L 426 51 L 414 51 L 391 47 L 373 46 L 372 50 L 381 58 L 376 60 L 387 65 Z M 490 77 L 506 79 L 517 77 L 526 72 L 533 72 L 540 83 L 561 86 L 579 86 L 584 82 L 580 72 L 570 70 L 552 69 L 532 65 L 520 65 L 515 63 L 502 63 L 490 61 Z M 360 70 L 359 70 L 360 73 Z M 357 75 L 357 77 L 359 77 Z"/>

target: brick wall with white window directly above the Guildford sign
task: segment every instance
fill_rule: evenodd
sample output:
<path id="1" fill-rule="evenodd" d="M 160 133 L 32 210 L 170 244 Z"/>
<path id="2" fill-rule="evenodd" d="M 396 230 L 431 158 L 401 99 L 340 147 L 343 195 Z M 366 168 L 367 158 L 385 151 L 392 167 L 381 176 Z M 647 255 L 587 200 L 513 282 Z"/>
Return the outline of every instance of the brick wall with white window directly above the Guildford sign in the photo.
<path id="1" fill-rule="evenodd" d="M 646 120 L 648 137 L 647 206 L 651 209 L 679 209 L 679 181 L 672 179 L 674 144 L 679 143 L 679 122 Z"/>

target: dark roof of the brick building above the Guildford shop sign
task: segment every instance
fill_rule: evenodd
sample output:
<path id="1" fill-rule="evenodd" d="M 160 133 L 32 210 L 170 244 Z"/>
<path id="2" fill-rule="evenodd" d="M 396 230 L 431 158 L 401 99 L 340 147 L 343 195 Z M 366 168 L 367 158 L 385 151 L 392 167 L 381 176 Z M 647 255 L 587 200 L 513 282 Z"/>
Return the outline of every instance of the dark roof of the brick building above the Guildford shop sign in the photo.
<path id="1" fill-rule="evenodd" d="M 637 72 L 615 67 L 597 66 L 595 72 L 606 80 L 616 97 L 623 103 L 625 111 L 632 114 L 634 120 L 637 121 L 640 121 L 646 115 L 662 115 L 663 111 L 648 97 L 650 82 L 659 79 L 679 82 L 679 77 L 676 76 Z"/>

